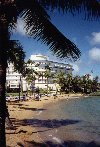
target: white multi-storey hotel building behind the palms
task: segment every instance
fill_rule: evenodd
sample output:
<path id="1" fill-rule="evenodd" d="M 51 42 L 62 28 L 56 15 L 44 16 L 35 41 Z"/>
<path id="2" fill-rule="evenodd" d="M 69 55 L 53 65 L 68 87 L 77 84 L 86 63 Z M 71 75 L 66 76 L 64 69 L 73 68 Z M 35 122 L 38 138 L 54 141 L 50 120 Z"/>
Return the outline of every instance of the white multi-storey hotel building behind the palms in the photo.
<path id="1" fill-rule="evenodd" d="M 72 65 L 50 61 L 47 56 L 41 54 L 31 55 L 30 59 L 34 61 L 34 63 L 27 64 L 27 67 L 34 69 L 37 72 L 44 73 L 46 71 L 45 66 L 47 65 L 49 65 L 49 67 L 51 68 L 51 73 L 53 74 L 59 73 L 60 71 L 64 72 L 65 74 L 70 74 L 73 71 Z M 14 71 L 13 64 L 8 63 L 7 76 L 6 76 L 7 86 L 9 88 L 19 88 L 20 77 L 22 81 L 21 82 L 22 89 L 23 91 L 27 91 L 27 89 L 30 88 L 30 85 L 28 85 L 27 81 L 25 80 L 25 78 L 22 77 L 21 74 L 19 74 L 17 71 Z M 51 87 L 52 90 L 56 89 L 56 84 L 53 83 L 52 78 L 49 78 L 48 86 Z M 47 87 L 46 77 L 36 76 L 35 87 L 46 88 Z"/>

